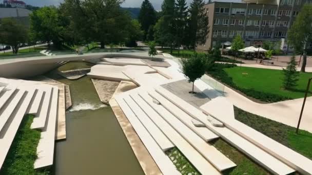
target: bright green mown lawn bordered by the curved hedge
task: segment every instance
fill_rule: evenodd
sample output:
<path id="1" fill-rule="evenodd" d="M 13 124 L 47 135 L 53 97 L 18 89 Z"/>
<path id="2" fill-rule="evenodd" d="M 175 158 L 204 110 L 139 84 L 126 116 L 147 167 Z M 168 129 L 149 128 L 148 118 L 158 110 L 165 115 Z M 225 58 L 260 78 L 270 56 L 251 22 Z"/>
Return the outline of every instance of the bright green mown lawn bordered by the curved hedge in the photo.
<path id="1" fill-rule="evenodd" d="M 253 89 L 293 99 L 304 97 L 308 78 L 312 77 L 312 73 L 300 73 L 300 79 L 295 90 L 287 91 L 282 88 L 283 71 L 246 67 L 226 68 L 224 70 L 240 88 Z M 308 95 L 312 95 L 311 91 Z"/>

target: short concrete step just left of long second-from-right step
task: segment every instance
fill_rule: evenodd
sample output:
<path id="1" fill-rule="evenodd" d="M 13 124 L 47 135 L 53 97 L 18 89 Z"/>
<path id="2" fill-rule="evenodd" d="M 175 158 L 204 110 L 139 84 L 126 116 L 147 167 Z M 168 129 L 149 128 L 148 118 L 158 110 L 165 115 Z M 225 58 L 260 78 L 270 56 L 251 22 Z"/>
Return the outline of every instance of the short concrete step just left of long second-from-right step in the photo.
<path id="1" fill-rule="evenodd" d="M 219 138 L 216 134 L 211 132 L 206 127 L 196 127 L 192 123 L 192 117 L 190 117 L 188 114 L 186 114 L 184 111 L 182 111 L 179 107 L 172 104 L 170 101 L 165 99 L 161 95 L 153 96 L 150 94 L 154 99 L 158 100 L 171 114 L 173 114 L 175 117 L 177 117 L 181 122 L 183 122 L 186 126 L 188 126 L 191 130 L 193 130 L 194 133 L 199 135 L 202 139 L 204 139 L 206 142 L 210 141 L 212 139 Z"/>

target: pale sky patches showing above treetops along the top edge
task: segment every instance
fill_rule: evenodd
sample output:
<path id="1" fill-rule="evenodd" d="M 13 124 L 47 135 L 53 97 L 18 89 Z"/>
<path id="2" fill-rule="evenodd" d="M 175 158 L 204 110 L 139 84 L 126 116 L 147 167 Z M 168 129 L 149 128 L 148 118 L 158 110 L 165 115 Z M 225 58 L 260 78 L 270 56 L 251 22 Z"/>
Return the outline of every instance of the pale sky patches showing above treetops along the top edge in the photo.
<path id="1" fill-rule="evenodd" d="M 32 6 L 50 6 L 50 5 L 54 5 L 54 6 L 58 6 L 61 2 L 63 2 L 63 0 L 22 0 L 24 1 L 26 4 L 32 5 Z M 161 4 L 162 4 L 162 0 L 149 0 L 155 10 L 160 10 L 161 8 Z M 187 3 L 190 3 L 192 0 L 186 0 Z M 241 2 L 240 0 L 220 0 L 222 2 Z M 142 4 L 143 0 L 126 0 L 123 4 L 122 7 L 140 7 Z M 206 2 L 208 2 L 208 0 L 206 0 Z"/>

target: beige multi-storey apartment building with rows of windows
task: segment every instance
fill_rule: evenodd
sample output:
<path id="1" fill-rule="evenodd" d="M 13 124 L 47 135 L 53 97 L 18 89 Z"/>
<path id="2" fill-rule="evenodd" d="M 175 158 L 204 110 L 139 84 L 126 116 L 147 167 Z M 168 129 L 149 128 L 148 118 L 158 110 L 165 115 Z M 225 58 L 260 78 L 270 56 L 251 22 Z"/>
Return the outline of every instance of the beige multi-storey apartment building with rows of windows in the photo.
<path id="1" fill-rule="evenodd" d="M 209 33 L 205 45 L 198 50 L 209 50 L 216 43 L 232 41 L 241 35 L 246 47 L 262 45 L 263 41 L 287 42 L 287 30 L 301 7 L 311 0 L 243 0 L 243 3 L 212 2 L 205 5 Z M 282 48 L 287 49 L 287 48 Z"/>

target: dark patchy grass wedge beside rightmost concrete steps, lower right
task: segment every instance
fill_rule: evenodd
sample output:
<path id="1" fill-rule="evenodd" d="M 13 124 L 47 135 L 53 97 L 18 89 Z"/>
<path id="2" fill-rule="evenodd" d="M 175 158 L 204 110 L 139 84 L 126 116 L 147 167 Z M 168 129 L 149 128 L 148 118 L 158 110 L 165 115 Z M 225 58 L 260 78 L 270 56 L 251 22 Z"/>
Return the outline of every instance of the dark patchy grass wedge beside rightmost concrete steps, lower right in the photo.
<path id="1" fill-rule="evenodd" d="M 312 160 L 312 134 L 235 107 L 235 119 Z"/>

